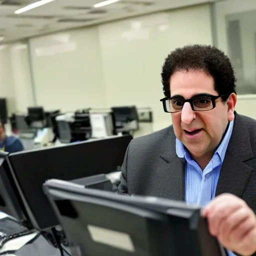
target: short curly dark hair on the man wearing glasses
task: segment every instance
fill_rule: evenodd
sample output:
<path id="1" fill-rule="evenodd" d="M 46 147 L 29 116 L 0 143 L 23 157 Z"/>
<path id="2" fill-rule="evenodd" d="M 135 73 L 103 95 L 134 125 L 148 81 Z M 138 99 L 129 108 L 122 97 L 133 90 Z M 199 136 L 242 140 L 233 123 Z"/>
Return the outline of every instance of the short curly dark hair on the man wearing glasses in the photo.
<path id="1" fill-rule="evenodd" d="M 203 70 L 214 80 L 214 89 L 221 95 L 235 91 L 235 76 L 229 58 L 223 51 L 210 45 L 186 45 L 176 48 L 165 58 L 161 81 L 165 97 L 170 97 L 170 76 L 181 70 Z M 223 100 L 226 97 L 222 97 Z"/>

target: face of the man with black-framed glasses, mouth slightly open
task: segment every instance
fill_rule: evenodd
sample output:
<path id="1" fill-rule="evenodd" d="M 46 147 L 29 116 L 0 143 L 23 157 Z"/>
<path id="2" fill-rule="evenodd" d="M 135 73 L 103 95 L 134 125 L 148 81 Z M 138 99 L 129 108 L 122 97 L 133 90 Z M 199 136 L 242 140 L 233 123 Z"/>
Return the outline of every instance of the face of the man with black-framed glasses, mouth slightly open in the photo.
<path id="1" fill-rule="evenodd" d="M 195 94 L 218 95 L 213 87 L 213 78 L 204 71 L 176 71 L 170 77 L 170 96 L 181 95 L 189 99 Z M 193 157 L 211 156 L 225 131 L 228 121 L 234 119 L 236 96 L 226 102 L 215 100 L 216 106 L 207 111 L 193 111 L 185 102 L 182 111 L 171 113 L 176 137 Z"/>

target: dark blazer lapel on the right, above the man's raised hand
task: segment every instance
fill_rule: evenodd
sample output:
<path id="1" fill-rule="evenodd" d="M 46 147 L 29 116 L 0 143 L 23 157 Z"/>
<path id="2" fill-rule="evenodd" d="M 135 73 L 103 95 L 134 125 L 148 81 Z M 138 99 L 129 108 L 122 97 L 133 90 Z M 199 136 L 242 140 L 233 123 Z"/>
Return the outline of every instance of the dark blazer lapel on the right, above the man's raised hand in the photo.
<path id="1" fill-rule="evenodd" d="M 254 165 L 252 164 L 254 161 L 250 161 L 254 156 L 249 145 L 248 129 L 241 116 L 235 114 L 233 131 L 220 170 L 216 195 L 226 192 L 242 197 Z"/>

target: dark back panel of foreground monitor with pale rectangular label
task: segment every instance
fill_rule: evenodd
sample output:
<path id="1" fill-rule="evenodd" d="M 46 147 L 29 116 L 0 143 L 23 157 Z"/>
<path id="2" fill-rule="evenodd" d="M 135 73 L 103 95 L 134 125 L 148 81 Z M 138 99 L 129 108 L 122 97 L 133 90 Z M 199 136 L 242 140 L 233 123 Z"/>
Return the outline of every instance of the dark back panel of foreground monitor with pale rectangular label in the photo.
<path id="1" fill-rule="evenodd" d="M 171 251 L 170 233 L 162 214 L 130 206 L 125 211 L 118 209 L 117 204 L 102 207 L 69 200 L 55 203 L 64 231 L 74 246 L 79 245 L 82 256 L 158 256 Z M 159 221 L 161 218 L 163 221 Z M 102 241 L 100 235 L 107 239 Z"/>

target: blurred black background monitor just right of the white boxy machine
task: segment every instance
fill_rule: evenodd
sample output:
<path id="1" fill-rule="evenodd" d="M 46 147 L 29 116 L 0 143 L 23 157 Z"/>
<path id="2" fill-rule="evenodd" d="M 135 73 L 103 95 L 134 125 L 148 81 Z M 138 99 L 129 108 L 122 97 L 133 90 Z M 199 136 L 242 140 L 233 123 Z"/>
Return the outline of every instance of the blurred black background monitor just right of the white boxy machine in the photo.
<path id="1" fill-rule="evenodd" d="M 116 132 L 129 132 L 138 129 L 136 106 L 114 106 L 113 112 Z"/>

